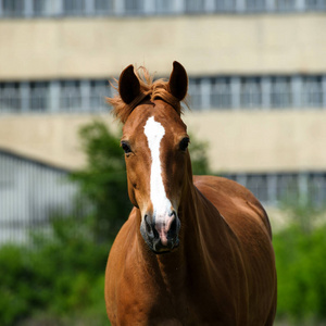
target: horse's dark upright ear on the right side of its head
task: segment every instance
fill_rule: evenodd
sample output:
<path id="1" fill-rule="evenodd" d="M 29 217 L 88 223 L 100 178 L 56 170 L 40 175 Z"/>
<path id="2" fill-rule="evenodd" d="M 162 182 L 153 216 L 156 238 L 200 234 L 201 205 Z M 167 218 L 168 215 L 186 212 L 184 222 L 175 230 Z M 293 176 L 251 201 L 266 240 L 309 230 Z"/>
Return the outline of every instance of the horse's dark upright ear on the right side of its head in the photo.
<path id="1" fill-rule="evenodd" d="M 184 66 L 177 61 L 173 62 L 173 71 L 168 80 L 170 92 L 181 101 L 188 90 L 188 76 Z"/>

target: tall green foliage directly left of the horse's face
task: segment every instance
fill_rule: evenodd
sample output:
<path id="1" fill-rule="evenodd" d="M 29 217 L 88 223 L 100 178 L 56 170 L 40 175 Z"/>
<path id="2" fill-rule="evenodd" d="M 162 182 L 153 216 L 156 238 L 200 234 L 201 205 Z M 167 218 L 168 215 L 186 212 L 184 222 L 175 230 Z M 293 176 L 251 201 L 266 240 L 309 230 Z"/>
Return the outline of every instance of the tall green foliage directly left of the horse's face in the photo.
<path id="1" fill-rule="evenodd" d="M 92 208 L 97 239 L 113 239 L 131 209 L 120 140 L 100 121 L 84 126 L 79 134 L 87 166 L 72 173 L 71 178 L 79 184 Z"/>

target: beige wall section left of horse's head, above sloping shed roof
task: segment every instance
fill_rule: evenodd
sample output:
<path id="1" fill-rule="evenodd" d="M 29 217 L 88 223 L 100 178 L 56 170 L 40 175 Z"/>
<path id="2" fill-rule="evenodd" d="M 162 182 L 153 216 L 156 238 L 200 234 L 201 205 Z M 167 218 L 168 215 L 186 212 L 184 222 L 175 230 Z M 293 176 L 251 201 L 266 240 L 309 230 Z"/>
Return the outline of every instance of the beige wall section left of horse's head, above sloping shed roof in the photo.
<path id="1" fill-rule="evenodd" d="M 85 163 L 79 128 L 95 115 L 9 115 L 0 118 L 0 148 L 63 168 Z M 105 116 L 105 121 L 113 121 Z M 116 131 L 117 125 L 113 125 Z"/>

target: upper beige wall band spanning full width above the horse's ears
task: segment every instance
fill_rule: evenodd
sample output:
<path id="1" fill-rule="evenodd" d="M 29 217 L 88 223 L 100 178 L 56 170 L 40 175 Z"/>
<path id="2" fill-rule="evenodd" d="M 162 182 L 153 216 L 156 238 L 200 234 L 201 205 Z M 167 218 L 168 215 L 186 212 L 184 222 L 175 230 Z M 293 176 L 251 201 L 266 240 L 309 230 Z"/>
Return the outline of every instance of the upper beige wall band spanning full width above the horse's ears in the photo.
<path id="1" fill-rule="evenodd" d="M 117 76 L 130 63 L 167 75 L 326 72 L 326 15 L 0 21 L 1 79 Z"/>

